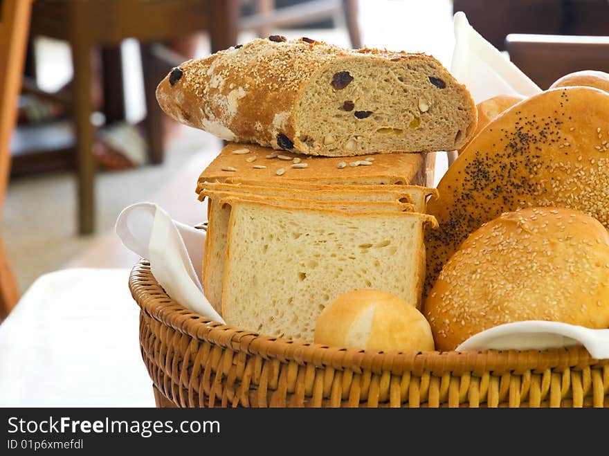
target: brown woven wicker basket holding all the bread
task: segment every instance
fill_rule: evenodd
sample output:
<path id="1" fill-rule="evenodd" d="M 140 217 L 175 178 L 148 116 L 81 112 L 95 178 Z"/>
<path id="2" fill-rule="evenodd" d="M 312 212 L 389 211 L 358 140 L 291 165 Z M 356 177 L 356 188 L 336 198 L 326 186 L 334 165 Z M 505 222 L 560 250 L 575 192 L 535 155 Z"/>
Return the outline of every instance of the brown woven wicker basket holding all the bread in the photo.
<path id="1" fill-rule="evenodd" d="M 609 407 L 609 360 L 583 348 L 391 353 L 260 336 L 192 313 L 131 271 L 159 407 Z"/>

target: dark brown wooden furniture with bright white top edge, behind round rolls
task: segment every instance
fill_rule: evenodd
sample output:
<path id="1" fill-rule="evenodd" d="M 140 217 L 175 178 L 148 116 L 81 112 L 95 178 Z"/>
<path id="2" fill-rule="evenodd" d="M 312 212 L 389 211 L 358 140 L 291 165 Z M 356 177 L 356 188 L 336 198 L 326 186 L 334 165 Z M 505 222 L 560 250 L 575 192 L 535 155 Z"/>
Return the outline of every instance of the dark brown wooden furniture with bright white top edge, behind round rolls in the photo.
<path id="1" fill-rule="evenodd" d="M 609 73 L 609 37 L 510 34 L 505 42 L 510 60 L 542 89 L 573 71 Z"/>

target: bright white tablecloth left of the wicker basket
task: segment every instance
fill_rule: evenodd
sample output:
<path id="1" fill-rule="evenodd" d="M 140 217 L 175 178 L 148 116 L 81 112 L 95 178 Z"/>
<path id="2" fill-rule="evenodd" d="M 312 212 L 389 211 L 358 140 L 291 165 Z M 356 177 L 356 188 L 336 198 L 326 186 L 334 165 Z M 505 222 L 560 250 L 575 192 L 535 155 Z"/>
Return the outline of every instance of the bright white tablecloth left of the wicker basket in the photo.
<path id="1" fill-rule="evenodd" d="M 40 277 L 0 325 L 0 406 L 154 407 L 127 269 Z"/>

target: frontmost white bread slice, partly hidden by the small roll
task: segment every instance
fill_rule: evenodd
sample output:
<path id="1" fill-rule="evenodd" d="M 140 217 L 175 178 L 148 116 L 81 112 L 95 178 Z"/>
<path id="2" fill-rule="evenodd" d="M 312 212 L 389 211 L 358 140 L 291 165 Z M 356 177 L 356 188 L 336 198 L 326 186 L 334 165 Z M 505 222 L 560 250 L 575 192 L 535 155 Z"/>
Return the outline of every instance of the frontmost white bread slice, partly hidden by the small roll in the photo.
<path id="1" fill-rule="evenodd" d="M 424 227 L 416 212 L 345 212 L 227 199 L 222 311 L 229 325 L 313 341 L 338 295 L 376 289 L 420 304 Z"/>

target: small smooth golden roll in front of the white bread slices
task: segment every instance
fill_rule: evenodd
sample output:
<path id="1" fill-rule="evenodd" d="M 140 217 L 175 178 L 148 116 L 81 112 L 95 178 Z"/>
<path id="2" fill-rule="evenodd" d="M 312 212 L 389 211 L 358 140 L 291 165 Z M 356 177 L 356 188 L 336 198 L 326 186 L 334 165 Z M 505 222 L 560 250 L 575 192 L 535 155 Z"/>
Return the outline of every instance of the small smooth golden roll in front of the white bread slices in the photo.
<path id="1" fill-rule="evenodd" d="M 385 291 L 338 296 L 317 319 L 315 343 L 383 352 L 432 351 L 429 323 L 414 306 Z"/>

